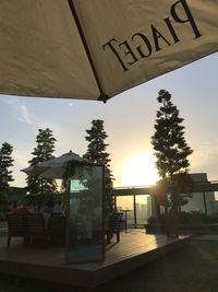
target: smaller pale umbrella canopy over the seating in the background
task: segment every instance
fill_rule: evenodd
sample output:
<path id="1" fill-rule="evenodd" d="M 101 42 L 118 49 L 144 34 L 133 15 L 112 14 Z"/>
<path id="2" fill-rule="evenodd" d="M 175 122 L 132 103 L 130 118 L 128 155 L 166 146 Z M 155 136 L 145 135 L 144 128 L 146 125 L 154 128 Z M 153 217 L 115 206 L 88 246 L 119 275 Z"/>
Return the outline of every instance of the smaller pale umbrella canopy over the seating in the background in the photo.
<path id="1" fill-rule="evenodd" d="M 37 163 L 34 166 L 29 166 L 21 170 L 31 176 L 38 176 L 41 178 L 63 178 L 69 164 L 92 164 L 89 161 L 81 157 L 78 154 L 72 151 L 62 154 L 59 157 L 53 157 L 48 161 Z"/>

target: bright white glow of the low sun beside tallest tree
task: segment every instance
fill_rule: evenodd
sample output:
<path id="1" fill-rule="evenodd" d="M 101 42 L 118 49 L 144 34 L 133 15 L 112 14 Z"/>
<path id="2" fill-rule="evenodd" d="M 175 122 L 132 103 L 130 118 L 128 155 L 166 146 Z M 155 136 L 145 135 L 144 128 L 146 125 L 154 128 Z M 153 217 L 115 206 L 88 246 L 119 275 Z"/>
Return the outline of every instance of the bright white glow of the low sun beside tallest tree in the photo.
<path id="1" fill-rule="evenodd" d="M 158 180 L 155 157 L 152 153 L 138 153 L 131 156 L 122 166 L 122 186 L 153 185 Z"/>

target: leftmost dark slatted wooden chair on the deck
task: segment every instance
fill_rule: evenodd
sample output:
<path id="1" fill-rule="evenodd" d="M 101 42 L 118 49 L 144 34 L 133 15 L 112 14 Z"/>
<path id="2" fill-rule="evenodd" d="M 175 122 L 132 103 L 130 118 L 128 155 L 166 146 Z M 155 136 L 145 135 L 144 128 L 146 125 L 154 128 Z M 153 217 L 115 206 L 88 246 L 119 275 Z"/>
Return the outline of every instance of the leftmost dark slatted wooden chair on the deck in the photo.
<path id="1" fill-rule="evenodd" d="M 11 244 L 11 237 L 23 237 L 24 243 L 27 241 L 28 231 L 26 215 L 23 214 L 8 214 L 8 246 Z"/>

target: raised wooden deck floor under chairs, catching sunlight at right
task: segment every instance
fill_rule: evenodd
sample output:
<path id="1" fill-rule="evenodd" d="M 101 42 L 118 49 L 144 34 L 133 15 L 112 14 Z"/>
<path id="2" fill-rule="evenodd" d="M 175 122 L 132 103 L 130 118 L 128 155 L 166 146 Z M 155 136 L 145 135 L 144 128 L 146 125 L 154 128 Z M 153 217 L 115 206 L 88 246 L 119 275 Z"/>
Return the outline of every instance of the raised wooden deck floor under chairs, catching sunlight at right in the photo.
<path id="1" fill-rule="evenodd" d="M 144 232 L 121 233 L 120 243 L 107 247 L 104 262 L 66 265 L 60 247 L 24 247 L 20 238 L 0 237 L 0 272 L 24 278 L 94 288 L 186 244 L 189 237 L 167 238 Z"/>

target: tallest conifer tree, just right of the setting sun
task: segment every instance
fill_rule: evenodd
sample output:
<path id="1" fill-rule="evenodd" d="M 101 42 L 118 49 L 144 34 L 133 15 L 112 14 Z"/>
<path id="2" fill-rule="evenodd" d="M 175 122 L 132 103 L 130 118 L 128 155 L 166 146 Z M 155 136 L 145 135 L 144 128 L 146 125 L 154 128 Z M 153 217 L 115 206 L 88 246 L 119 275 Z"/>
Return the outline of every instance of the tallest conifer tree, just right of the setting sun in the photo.
<path id="1" fill-rule="evenodd" d="M 190 162 L 187 160 L 193 150 L 187 145 L 184 138 L 183 118 L 180 117 L 177 106 L 172 104 L 171 94 L 160 90 L 157 101 L 161 106 L 156 115 L 152 144 L 157 157 L 156 166 L 162 179 L 158 187 L 160 190 L 160 186 L 165 186 L 160 190 L 164 196 L 160 197 L 166 209 L 167 194 L 170 194 L 172 208 L 178 213 L 179 206 L 187 202 L 193 188 L 193 182 L 189 175 Z"/>

